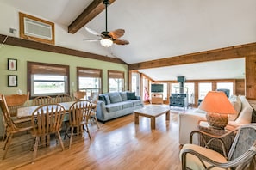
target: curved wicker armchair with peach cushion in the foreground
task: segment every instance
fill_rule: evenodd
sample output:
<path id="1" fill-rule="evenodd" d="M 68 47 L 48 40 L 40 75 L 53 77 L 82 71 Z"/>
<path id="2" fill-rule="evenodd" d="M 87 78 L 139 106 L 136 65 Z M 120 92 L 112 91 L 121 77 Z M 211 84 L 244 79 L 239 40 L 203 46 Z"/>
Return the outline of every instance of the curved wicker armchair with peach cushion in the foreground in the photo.
<path id="1" fill-rule="evenodd" d="M 202 131 L 194 131 L 192 133 L 209 135 L 202 133 Z M 232 143 L 227 157 L 215 150 L 204 148 L 196 144 L 184 144 L 183 149 L 180 151 L 182 169 L 254 169 L 256 155 L 256 124 L 243 125 L 221 137 L 212 137 L 219 140 L 222 139 L 222 137 L 227 137 L 234 133 L 234 142 Z M 206 145 L 208 144 L 209 143 L 206 143 Z"/>

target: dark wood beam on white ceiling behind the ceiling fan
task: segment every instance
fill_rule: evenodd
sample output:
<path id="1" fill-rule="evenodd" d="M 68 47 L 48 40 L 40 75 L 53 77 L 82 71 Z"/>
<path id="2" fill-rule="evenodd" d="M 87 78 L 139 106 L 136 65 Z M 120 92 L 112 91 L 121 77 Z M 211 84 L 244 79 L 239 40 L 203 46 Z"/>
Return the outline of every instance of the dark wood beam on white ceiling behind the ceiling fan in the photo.
<path id="1" fill-rule="evenodd" d="M 115 0 L 109 0 L 109 5 Z M 68 26 L 68 33 L 77 33 L 81 27 L 84 27 L 95 16 L 105 9 L 103 0 L 94 0 L 78 17 Z"/>

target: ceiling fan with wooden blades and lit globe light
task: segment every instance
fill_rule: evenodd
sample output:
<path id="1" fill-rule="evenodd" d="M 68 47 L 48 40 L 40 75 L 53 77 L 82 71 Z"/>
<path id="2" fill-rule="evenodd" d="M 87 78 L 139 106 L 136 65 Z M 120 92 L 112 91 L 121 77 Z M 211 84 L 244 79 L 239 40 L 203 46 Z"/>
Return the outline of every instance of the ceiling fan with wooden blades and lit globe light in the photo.
<path id="1" fill-rule="evenodd" d="M 113 43 L 116 45 L 128 45 L 128 40 L 119 39 L 123 36 L 125 33 L 124 29 L 116 29 L 114 31 L 108 32 L 108 5 L 109 0 L 103 0 L 103 4 L 105 5 L 105 11 L 106 11 L 106 30 L 102 33 L 97 33 L 96 31 L 92 30 L 89 27 L 85 27 L 86 31 L 88 31 L 91 34 L 97 35 L 97 37 L 100 37 L 98 39 L 84 39 L 87 41 L 100 41 L 102 46 L 109 47 L 112 46 Z"/>

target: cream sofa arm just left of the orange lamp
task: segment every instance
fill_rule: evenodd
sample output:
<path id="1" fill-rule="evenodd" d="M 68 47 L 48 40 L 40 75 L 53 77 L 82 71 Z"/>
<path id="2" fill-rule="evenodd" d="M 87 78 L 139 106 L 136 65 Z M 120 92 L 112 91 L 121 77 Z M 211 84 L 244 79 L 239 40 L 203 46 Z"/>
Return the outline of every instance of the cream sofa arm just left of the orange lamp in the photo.
<path id="1" fill-rule="evenodd" d="M 199 116 L 200 115 L 200 116 Z M 178 115 L 179 121 L 179 144 L 190 143 L 190 133 L 191 131 L 198 130 L 198 122 L 200 120 L 206 120 L 203 114 L 196 112 L 190 113 L 180 113 Z M 198 144 L 198 136 L 193 137 L 193 143 Z"/>

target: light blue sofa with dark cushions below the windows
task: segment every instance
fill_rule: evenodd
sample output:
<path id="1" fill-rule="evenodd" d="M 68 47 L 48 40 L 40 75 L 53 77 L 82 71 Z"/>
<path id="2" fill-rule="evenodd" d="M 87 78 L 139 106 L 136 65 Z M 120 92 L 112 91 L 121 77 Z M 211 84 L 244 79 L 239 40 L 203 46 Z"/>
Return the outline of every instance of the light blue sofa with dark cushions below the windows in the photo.
<path id="1" fill-rule="evenodd" d="M 143 107 L 140 96 L 134 92 L 111 92 L 99 94 L 97 101 L 97 119 L 106 122 L 113 118 L 133 113 L 135 109 Z"/>

